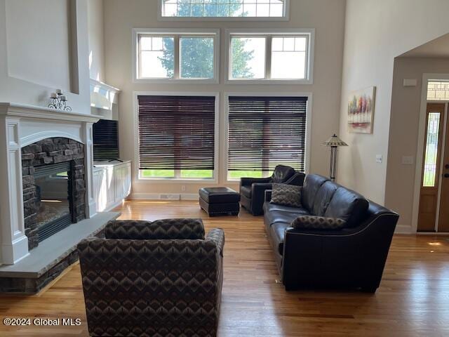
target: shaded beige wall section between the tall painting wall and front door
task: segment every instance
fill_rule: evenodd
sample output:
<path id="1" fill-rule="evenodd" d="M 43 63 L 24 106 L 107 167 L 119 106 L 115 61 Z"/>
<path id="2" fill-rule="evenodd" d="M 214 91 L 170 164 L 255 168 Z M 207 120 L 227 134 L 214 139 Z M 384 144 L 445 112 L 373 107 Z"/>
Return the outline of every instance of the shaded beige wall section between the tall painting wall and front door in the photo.
<path id="1" fill-rule="evenodd" d="M 387 162 L 385 204 L 401 214 L 398 225 L 411 231 L 415 164 L 402 164 L 403 156 L 416 161 L 422 93 L 422 74 L 449 74 L 449 58 L 396 58 Z M 417 79 L 404 87 L 403 79 Z M 425 85 L 425 84 L 424 84 Z"/>

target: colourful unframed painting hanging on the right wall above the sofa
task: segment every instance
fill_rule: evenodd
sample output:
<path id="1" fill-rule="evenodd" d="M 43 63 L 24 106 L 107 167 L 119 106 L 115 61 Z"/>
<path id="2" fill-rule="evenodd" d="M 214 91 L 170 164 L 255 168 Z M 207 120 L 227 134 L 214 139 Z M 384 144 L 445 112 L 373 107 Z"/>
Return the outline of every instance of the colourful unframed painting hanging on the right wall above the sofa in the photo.
<path id="1" fill-rule="evenodd" d="M 376 87 L 370 86 L 349 94 L 348 132 L 373 133 Z"/>

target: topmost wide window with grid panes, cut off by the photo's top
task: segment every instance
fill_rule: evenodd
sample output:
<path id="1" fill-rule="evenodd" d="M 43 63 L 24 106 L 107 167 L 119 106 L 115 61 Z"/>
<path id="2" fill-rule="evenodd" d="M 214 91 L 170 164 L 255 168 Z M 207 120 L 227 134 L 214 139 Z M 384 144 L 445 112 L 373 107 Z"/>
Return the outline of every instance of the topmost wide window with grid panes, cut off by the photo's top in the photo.
<path id="1" fill-rule="evenodd" d="M 159 0 L 161 18 L 288 18 L 288 0 Z"/>

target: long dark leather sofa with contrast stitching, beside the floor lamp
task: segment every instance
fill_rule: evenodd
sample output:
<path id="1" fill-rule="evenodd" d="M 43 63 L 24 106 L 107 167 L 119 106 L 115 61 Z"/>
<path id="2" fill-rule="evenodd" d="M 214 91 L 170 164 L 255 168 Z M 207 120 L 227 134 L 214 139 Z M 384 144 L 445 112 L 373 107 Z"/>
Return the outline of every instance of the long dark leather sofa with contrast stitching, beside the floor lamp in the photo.
<path id="1" fill-rule="evenodd" d="M 264 225 L 287 290 L 325 287 L 376 291 L 397 213 L 314 174 L 304 180 L 302 207 L 276 205 L 270 200 L 271 191 L 267 190 Z M 293 228 L 293 220 L 304 215 L 342 218 L 346 227 Z"/>

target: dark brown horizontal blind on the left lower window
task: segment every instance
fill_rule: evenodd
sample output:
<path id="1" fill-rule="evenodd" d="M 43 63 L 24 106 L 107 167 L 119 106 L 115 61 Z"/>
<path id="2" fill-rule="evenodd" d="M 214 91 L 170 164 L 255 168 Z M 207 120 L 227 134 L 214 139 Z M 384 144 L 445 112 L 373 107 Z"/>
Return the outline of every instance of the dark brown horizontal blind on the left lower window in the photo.
<path id="1" fill-rule="evenodd" d="M 213 170 L 215 96 L 139 95 L 140 169 Z"/>

